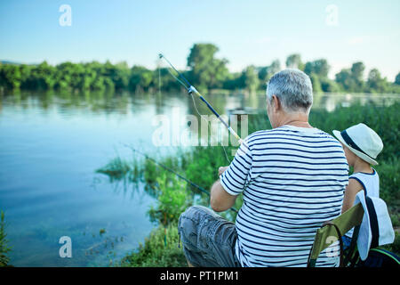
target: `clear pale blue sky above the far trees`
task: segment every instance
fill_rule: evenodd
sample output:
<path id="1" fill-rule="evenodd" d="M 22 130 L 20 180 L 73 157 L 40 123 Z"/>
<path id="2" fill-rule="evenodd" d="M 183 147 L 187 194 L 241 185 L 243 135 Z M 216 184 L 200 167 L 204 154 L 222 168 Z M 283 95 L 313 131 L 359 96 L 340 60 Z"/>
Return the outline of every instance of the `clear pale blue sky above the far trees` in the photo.
<path id="1" fill-rule="evenodd" d="M 72 25 L 61 27 L 61 4 L 72 9 Z M 338 25 L 326 24 L 328 4 Z M 213 43 L 231 70 L 325 58 L 333 73 L 364 61 L 394 80 L 400 71 L 400 1 L 128 1 L 2 0 L 0 60 L 127 61 L 154 69 L 163 52 L 186 66 L 194 43 Z"/>

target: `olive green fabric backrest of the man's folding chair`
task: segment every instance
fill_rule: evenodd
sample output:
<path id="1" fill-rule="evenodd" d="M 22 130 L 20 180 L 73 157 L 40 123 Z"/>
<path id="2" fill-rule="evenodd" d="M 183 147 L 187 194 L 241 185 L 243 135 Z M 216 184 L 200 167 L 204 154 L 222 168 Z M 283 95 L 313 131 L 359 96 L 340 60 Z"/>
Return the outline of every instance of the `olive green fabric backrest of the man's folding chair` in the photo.
<path id="1" fill-rule="evenodd" d="M 333 219 L 329 224 L 325 224 L 319 228 L 316 231 L 316 238 L 308 256 L 308 267 L 314 267 L 321 251 L 332 244 L 332 238 L 330 237 L 336 237 L 338 240 L 341 239 L 341 236 L 338 236 L 338 230 L 341 235 L 345 234 L 353 227 L 361 224 L 363 216 L 364 208 L 361 203 L 358 203 Z"/>

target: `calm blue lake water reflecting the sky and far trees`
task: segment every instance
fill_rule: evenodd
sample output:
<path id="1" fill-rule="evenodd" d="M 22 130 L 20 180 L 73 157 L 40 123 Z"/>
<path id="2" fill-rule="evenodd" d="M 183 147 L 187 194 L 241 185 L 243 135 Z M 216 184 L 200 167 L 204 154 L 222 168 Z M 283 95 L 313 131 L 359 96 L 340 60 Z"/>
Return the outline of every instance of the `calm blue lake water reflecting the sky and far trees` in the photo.
<path id="1" fill-rule="evenodd" d="M 390 97 L 390 96 L 389 96 Z M 196 114 L 186 94 L 8 94 L 0 97 L 0 209 L 5 211 L 15 266 L 107 266 L 143 242 L 155 224 L 146 215 L 155 199 L 96 169 L 124 143 L 165 153 L 152 141 L 158 114 Z M 334 108 L 360 98 L 320 96 L 315 108 Z M 398 98 L 398 97 L 397 97 Z M 216 110 L 265 109 L 259 96 L 214 95 Z M 390 100 L 390 98 L 389 98 Z M 198 110 L 210 114 L 204 105 Z M 182 123 L 182 122 L 181 122 Z M 185 122 L 183 122 L 184 125 Z M 100 234 L 100 230 L 106 232 Z M 72 257 L 59 256 L 69 236 Z"/>

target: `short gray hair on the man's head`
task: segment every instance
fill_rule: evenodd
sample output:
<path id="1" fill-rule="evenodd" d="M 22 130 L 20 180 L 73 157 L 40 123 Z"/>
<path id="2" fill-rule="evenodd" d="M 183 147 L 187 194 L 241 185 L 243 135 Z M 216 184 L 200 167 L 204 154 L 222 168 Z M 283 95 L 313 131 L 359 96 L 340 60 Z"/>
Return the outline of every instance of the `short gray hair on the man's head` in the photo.
<path id="1" fill-rule="evenodd" d="M 299 69 L 276 72 L 268 81 L 267 99 L 276 95 L 287 112 L 308 112 L 313 104 L 313 86 L 307 74 Z"/>

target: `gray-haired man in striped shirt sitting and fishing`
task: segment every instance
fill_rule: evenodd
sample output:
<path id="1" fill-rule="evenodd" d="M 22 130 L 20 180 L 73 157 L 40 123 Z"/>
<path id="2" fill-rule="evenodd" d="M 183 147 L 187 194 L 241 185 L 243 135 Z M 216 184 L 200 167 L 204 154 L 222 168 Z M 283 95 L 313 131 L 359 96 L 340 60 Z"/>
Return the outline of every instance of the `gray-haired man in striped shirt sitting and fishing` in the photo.
<path id="1" fill-rule="evenodd" d="M 236 224 L 209 208 L 188 208 L 179 222 L 188 265 L 307 265 L 316 230 L 340 215 L 348 184 L 340 142 L 308 123 L 312 102 L 304 72 L 284 69 L 270 78 L 267 113 L 273 129 L 245 138 L 212 185 L 216 212 L 231 208 L 243 193 Z M 338 265 L 335 248 L 323 251 L 317 266 Z"/>

